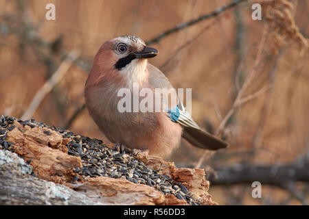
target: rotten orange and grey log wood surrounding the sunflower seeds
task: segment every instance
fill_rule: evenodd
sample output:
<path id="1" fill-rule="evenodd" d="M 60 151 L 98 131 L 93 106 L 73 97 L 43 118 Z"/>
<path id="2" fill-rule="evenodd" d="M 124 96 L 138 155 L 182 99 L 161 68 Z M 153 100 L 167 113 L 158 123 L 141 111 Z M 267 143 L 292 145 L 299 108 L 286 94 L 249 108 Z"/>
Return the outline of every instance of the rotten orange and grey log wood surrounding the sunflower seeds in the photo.
<path id="1" fill-rule="evenodd" d="M 67 139 L 45 127 L 29 127 L 14 120 L 5 140 L 27 164 L 17 164 L 5 154 L 0 159 L 0 204 L 25 205 L 187 205 L 183 199 L 163 194 L 155 187 L 111 177 L 84 177 L 73 170 L 82 167 L 80 157 L 67 154 Z M 48 134 L 46 132 L 48 131 Z M 2 153 L 10 153 L 0 149 Z M 16 155 L 12 153 L 13 155 Z M 10 155 L 11 156 L 11 155 Z M 9 156 L 9 157 L 10 157 Z M 136 155 L 148 168 L 181 182 L 202 205 L 216 205 L 208 194 L 209 182 L 202 169 L 176 168 L 161 157 Z M 8 160 L 7 160 L 8 159 Z M 9 163 L 9 164 L 8 164 Z M 28 165 L 29 164 L 29 165 Z M 20 168 L 31 170 L 21 172 Z M 30 175 L 36 175 L 33 177 Z M 74 177 L 80 177 L 72 183 Z M 55 184 L 57 183 L 57 184 Z M 62 185 L 60 185 L 62 184 Z M 12 198 L 14 196 L 14 198 Z"/>

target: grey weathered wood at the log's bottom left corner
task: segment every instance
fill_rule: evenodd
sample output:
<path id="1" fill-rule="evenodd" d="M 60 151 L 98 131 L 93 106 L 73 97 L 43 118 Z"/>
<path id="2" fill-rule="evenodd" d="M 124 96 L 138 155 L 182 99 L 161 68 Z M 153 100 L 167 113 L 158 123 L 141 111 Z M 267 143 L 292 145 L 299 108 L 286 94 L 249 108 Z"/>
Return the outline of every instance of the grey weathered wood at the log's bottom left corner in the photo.
<path id="1" fill-rule="evenodd" d="M 0 205 L 98 205 L 64 185 L 32 177 L 31 166 L 0 150 Z"/>

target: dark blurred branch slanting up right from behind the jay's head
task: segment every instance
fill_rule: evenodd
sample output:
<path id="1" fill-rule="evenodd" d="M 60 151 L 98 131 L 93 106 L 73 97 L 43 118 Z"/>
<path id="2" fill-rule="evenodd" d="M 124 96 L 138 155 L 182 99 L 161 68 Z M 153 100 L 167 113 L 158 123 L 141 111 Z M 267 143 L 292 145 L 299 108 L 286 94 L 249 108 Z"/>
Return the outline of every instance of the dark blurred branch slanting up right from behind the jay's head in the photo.
<path id="1" fill-rule="evenodd" d="M 159 34 L 158 36 L 156 36 L 155 38 L 152 38 L 151 40 L 148 40 L 146 42 L 146 44 L 150 45 L 150 44 L 157 43 L 160 40 L 162 40 L 163 38 L 169 36 L 170 34 L 173 34 L 173 33 L 177 32 L 177 31 L 180 31 L 181 29 L 185 29 L 185 28 L 190 27 L 190 26 L 192 26 L 192 25 L 194 25 L 196 23 L 199 23 L 201 21 L 205 21 L 208 18 L 216 17 L 219 14 L 221 14 L 222 12 L 225 12 L 226 10 L 235 7 L 239 3 L 242 3 L 243 1 L 248 1 L 248 0 L 234 0 L 232 3 L 229 3 L 228 5 L 222 6 L 220 8 L 217 8 L 213 12 L 210 12 L 210 13 L 207 13 L 207 14 L 203 14 L 202 16 L 199 16 L 198 18 L 193 19 L 191 21 L 187 21 L 187 22 L 184 22 L 184 23 L 179 23 L 178 25 L 176 25 L 172 29 L 168 29 L 168 30 L 164 31 L 163 33 Z"/>

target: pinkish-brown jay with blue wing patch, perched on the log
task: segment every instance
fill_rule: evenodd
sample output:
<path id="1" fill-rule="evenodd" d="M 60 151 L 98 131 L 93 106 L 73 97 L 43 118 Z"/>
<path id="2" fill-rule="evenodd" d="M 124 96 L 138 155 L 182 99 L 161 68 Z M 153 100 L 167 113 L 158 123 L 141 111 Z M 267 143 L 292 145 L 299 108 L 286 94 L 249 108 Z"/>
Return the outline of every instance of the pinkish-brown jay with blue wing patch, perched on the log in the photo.
<path id="1" fill-rule="evenodd" d="M 86 82 L 84 94 L 87 108 L 104 135 L 111 142 L 122 142 L 136 149 L 149 149 L 150 154 L 161 156 L 169 155 L 179 146 L 182 134 L 202 148 L 207 148 L 207 145 L 203 146 L 203 142 L 195 138 L 210 139 L 208 143 L 216 143 L 216 146 L 209 145 L 209 149 L 226 147 L 225 142 L 201 130 L 179 101 L 166 103 L 170 112 L 176 113 L 178 109 L 179 114 L 170 114 L 168 109 L 161 112 L 119 112 L 117 107 L 122 96 L 118 96 L 117 92 L 121 88 L 133 92 L 133 85 L 137 83 L 139 91 L 148 88 L 155 93 L 156 88 L 174 89 L 167 77 L 144 58 L 153 57 L 152 48 L 146 51 L 148 47 L 144 41 L 130 37 L 115 38 L 102 45 Z M 128 44 L 130 53 L 115 52 L 119 44 Z M 153 96 L 153 103 L 156 97 L 158 95 Z M 139 101 L 144 99 L 138 98 Z M 161 94 L 159 99 L 162 103 Z"/>

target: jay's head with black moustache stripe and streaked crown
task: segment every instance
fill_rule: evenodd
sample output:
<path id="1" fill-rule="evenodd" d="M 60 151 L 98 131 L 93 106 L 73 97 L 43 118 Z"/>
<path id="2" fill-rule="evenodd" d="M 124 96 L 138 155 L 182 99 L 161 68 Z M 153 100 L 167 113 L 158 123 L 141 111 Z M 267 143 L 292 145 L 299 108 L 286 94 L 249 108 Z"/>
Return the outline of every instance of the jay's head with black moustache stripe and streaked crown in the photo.
<path id="1" fill-rule="evenodd" d="M 157 49 L 146 47 L 137 36 L 119 36 L 108 40 L 95 55 L 86 86 L 100 81 L 124 82 L 128 86 L 146 81 L 147 59 L 156 55 Z"/>

